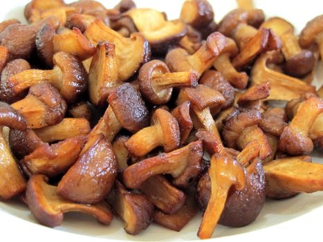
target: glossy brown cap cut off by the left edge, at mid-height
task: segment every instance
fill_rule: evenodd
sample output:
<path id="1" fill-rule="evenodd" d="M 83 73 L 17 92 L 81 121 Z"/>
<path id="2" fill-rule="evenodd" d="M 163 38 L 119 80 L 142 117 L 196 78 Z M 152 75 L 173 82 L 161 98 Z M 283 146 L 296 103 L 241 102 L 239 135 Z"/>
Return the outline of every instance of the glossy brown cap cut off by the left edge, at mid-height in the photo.
<path id="1" fill-rule="evenodd" d="M 0 126 L 24 130 L 27 129 L 27 122 L 12 106 L 0 102 Z"/>

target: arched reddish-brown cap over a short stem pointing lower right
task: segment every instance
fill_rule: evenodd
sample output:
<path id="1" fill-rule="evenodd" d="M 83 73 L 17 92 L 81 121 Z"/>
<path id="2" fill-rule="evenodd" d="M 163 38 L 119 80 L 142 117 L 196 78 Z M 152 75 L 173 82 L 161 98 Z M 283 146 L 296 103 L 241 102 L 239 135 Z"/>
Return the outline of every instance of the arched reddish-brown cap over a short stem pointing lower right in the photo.
<path id="1" fill-rule="evenodd" d="M 237 149 L 237 140 L 243 130 L 258 124 L 261 120 L 261 114 L 257 109 L 250 109 L 233 115 L 223 127 L 222 136 L 225 144 Z"/>

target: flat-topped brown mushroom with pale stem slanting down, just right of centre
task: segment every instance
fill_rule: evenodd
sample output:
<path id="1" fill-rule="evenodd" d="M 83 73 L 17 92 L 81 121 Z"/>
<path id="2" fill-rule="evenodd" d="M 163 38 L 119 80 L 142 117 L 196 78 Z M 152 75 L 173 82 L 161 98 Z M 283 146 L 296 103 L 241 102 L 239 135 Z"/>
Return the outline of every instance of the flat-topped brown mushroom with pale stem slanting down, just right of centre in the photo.
<path id="1" fill-rule="evenodd" d="M 177 105 L 189 100 L 191 117 L 195 129 L 206 129 L 219 136 L 212 114 L 219 113 L 225 102 L 223 95 L 214 89 L 199 84 L 196 88 L 181 89 L 177 97 Z"/>

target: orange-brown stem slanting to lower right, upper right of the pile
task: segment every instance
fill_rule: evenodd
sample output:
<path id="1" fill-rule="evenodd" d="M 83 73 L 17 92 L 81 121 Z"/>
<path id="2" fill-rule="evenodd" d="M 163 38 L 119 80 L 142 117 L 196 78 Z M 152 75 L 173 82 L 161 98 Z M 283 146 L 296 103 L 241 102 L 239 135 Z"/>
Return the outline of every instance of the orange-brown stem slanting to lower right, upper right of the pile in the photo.
<path id="1" fill-rule="evenodd" d="M 213 64 L 217 71 L 220 71 L 225 79 L 237 89 L 244 89 L 248 83 L 248 75 L 239 73 L 230 62 L 230 53 L 224 53 L 216 59 Z"/>

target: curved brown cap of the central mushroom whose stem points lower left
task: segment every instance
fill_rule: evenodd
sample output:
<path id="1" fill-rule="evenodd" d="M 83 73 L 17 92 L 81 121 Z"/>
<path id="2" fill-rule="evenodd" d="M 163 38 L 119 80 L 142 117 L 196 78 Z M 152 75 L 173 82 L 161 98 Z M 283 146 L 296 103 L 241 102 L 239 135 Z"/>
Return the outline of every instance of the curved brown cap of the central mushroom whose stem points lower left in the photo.
<path id="1" fill-rule="evenodd" d="M 181 132 L 176 118 L 164 109 L 156 109 L 151 118 L 151 124 L 159 124 L 163 131 L 165 152 L 173 151 L 179 146 Z"/>

